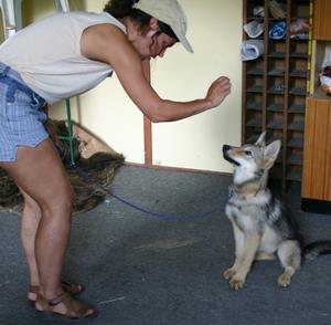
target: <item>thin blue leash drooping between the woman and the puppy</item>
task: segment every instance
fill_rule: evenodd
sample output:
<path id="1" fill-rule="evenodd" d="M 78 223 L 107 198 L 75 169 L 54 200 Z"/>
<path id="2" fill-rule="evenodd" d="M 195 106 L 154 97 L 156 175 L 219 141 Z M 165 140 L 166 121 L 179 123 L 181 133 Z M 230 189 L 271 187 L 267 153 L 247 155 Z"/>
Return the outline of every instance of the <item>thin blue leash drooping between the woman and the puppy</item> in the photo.
<path id="1" fill-rule="evenodd" d="M 209 212 L 205 212 L 203 214 L 191 214 L 191 216 L 184 216 L 184 214 L 171 214 L 171 213 L 160 213 L 160 212 L 154 212 L 154 211 L 150 211 L 148 209 L 145 209 L 142 207 L 137 206 L 136 203 L 129 202 L 128 200 L 113 193 L 109 189 L 103 187 L 102 185 L 99 185 L 95 179 L 93 179 L 87 172 L 85 172 L 84 170 L 82 170 L 82 168 L 77 167 L 75 164 L 70 164 L 70 167 L 72 169 L 74 169 L 76 171 L 76 174 L 78 176 L 81 176 L 84 180 L 86 180 L 87 182 L 92 182 L 94 185 L 96 185 L 97 187 L 99 187 L 100 189 L 103 189 L 105 192 L 107 192 L 110 197 L 113 197 L 114 199 L 118 200 L 119 202 L 135 209 L 138 210 L 140 212 L 143 212 L 146 214 L 152 216 L 152 217 L 157 217 L 163 220 L 168 220 L 168 221 L 182 221 L 182 222 L 190 222 L 190 221 L 194 221 L 196 219 L 203 219 L 206 218 L 209 216 L 211 216 L 213 212 L 217 211 L 218 209 L 214 209 L 211 210 Z"/>

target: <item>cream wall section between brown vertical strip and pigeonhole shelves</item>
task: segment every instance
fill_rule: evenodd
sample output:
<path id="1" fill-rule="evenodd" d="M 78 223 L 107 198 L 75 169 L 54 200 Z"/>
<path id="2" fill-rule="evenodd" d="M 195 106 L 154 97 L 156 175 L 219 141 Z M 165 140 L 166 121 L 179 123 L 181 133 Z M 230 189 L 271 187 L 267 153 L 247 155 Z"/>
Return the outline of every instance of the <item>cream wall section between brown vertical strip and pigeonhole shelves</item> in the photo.
<path id="1" fill-rule="evenodd" d="M 242 2 L 182 0 L 194 54 L 181 45 L 153 69 L 153 85 L 164 97 L 202 97 L 220 75 L 232 81 L 232 94 L 217 108 L 194 117 L 153 126 L 153 157 L 158 165 L 231 170 L 221 155 L 224 143 L 241 140 Z"/>

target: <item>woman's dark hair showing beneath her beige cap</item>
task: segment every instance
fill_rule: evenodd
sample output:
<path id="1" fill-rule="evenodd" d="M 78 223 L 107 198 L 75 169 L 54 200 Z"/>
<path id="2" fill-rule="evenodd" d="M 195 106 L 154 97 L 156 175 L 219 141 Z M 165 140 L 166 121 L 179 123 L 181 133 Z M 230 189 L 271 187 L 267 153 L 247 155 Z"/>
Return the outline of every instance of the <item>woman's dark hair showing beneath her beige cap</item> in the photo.
<path id="1" fill-rule="evenodd" d="M 129 17 L 138 24 L 138 28 L 142 30 L 143 28 L 147 28 L 149 25 L 150 19 L 152 17 L 139 9 L 132 8 L 136 2 L 139 2 L 139 0 L 110 0 L 105 6 L 104 11 L 108 12 L 117 19 Z M 160 29 L 158 33 L 164 33 L 168 36 L 171 36 L 179 41 L 178 36 L 174 34 L 169 24 L 160 20 L 158 21 L 158 24 Z"/>

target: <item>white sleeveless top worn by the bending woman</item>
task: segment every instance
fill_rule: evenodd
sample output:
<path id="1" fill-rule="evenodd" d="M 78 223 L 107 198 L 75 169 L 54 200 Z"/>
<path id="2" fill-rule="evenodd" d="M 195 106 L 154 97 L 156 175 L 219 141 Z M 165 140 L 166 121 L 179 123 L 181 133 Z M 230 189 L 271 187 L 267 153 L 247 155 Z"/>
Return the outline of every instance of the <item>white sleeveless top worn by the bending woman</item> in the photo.
<path id="1" fill-rule="evenodd" d="M 114 24 L 126 33 L 125 25 L 106 12 L 56 13 L 4 41 L 0 62 L 18 71 L 49 104 L 82 94 L 113 73 L 109 64 L 81 53 L 83 31 L 100 23 Z"/>

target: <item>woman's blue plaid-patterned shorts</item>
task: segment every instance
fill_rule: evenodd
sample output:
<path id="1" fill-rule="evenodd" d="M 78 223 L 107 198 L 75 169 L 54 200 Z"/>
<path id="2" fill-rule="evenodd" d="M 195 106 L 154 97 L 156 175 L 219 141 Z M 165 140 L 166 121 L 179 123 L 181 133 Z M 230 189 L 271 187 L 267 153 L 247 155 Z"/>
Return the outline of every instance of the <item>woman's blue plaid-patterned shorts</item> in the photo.
<path id="1" fill-rule="evenodd" d="M 35 147 L 49 137 L 45 104 L 17 71 L 0 63 L 0 161 L 14 161 L 19 146 Z"/>

